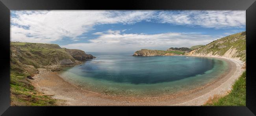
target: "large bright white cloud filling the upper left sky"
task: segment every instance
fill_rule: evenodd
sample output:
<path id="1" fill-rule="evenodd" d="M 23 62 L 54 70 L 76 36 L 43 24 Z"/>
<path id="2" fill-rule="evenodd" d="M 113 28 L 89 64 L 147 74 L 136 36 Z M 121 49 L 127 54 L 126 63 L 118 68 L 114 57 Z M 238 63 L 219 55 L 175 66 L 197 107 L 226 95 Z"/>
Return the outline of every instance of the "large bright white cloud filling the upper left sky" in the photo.
<path id="1" fill-rule="evenodd" d="M 150 11 L 14 11 L 11 41 L 52 42 L 76 37 L 97 24 L 134 24 L 152 15 Z M 21 26 L 29 27 L 24 29 Z"/>

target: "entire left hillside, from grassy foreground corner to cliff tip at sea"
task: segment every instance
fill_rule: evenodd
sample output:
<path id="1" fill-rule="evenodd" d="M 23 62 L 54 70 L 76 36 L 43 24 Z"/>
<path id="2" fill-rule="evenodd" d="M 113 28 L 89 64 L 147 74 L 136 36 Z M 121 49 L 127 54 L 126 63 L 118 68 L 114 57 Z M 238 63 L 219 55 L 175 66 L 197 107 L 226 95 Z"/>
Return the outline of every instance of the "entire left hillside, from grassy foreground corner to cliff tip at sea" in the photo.
<path id="1" fill-rule="evenodd" d="M 70 50 L 61 48 L 57 44 L 41 43 L 10 43 L 10 91 L 11 105 L 15 106 L 49 106 L 55 105 L 56 99 L 42 96 L 34 89 L 27 77 L 37 74 L 37 68 L 54 70 L 53 65 L 58 67 L 81 63 L 76 56 L 90 59 L 82 50 Z M 82 51 L 82 52 L 81 52 Z M 81 53 L 81 54 L 79 54 Z M 74 55 L 75 54 L 75 55 Z M 88 57 L 86 57 L 88 56 Z"/>

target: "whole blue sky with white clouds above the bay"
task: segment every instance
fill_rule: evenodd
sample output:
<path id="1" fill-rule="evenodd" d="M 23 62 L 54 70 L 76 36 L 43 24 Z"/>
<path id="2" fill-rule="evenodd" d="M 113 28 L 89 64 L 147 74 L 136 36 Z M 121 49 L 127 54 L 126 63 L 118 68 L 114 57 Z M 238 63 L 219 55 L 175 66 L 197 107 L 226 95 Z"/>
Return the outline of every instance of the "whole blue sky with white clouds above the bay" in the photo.
<path id="1" fill-rule="evenodd" d="M 85 52 L 205 45 L 245 31 L 246 11 L 11 10 L 11 41 Z"/>

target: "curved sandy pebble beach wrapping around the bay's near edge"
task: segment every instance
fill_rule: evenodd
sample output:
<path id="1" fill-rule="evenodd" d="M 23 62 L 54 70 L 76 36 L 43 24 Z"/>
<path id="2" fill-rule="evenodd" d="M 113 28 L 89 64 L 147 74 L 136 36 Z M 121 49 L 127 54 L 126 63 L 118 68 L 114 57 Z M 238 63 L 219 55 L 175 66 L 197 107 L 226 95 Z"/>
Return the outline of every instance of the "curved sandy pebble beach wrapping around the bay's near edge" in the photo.
<path id="1" fill-rule="evenodd" d="M 95 105 L 164 105 L 164 106 L 198 106 L 205 103 L 214 94 L 227 94 L 232 88 L 232 84 L 242 74 L 243 62 L 239 59 L 229 59 L 226 57 L 215 57 L 223 59 L 229 65 L 226 73 L 213 83 L 209 83 L 195 90 L 182 92 L 179 94 L 154 97 L 154 98 L 126 98 L 98 94 L 77 87 L 65 81 L 57 72 L 50 72 L 46 69 L 39 69 L 39 74 L 35 75 L 32 84 L 35 89 L 45 94 L 54 94 L 53 98 L 61 99 L 58 105 L 67 106 L 95 106 Z"/>

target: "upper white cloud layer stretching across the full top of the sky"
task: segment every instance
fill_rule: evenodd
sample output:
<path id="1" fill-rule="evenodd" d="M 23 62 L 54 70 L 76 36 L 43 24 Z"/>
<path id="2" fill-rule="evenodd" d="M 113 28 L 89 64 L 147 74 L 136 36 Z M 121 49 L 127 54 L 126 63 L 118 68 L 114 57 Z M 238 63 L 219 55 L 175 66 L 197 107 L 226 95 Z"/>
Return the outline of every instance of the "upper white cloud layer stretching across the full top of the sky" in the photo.
<path id="1" fill-rule="evenodd" d="M 134 24 L 142 20 L 205 28 L 245 26 L 245 11 L 11 11 L 11 41 L 78 41 L 98 24 Z M 124 30 L 123 30 L 124 31 Z M 100 33 L 95 33 L 100 34 Z M 118 34 L 118 33 L 117 33 Z M 140 35 L 138 35 L 140 36 Z"/>

